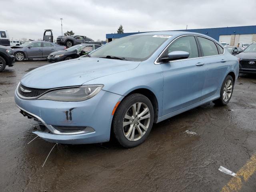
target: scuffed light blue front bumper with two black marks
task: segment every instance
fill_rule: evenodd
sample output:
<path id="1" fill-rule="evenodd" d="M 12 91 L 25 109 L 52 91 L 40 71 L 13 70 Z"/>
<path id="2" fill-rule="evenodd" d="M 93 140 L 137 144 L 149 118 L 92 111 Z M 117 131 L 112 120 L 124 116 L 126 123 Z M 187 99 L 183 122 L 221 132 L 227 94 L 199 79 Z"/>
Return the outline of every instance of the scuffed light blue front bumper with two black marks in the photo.
<path id="1" fill-rule="evenodd" d="M 38 122 L 42 130 L 34 131 L 49 142 L 89 144 L 107 142 L 110 138 L 112 110 L 120 95 L 101 90 L 82 102 L 24 100 L 15 92 L 20 112 Z"/>

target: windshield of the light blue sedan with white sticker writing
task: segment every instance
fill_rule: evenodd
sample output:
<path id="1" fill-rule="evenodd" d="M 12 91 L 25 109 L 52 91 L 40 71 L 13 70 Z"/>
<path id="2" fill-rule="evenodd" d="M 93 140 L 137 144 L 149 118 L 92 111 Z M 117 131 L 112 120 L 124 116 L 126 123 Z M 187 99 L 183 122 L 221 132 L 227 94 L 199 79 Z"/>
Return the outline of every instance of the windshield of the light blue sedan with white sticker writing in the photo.
<path id="1" fill-rule="evenodd" d="M 129 61 L 148 59 L 170 35 L 135 35 L 114 40 L 90 54 L 92 57 L 114 56 Z"/>

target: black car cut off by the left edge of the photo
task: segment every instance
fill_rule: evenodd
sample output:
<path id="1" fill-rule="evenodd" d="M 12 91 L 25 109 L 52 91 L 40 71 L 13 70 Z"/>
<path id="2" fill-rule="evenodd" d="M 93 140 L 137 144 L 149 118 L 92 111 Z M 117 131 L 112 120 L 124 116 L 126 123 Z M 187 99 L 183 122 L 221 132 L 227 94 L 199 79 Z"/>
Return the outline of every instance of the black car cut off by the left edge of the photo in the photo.
<path id="1" fill-rule="evenodd" d="M 2 72 L 5 67 L 14 66 L 15 58 L 12 55 L 12 49 L 10 47 L 0 45 L 0 72 Z"/>

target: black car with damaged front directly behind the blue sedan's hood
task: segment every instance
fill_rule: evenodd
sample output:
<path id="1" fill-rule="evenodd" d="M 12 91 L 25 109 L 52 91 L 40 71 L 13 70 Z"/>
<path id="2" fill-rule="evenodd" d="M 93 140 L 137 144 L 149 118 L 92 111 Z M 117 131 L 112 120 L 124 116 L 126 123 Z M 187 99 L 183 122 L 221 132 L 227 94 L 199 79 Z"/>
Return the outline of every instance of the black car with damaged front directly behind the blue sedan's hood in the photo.
<path id="1" fill-rule="evenodd" d="M 95 44 L 79 44 L 79 45 L 75 45 L 70 48 L 67 48 L 64 51 L 52 52 L 48 56 L 47 60 L 48 62 L 52 63 L 52 62 L 75 59 L 82 55 L 88 54 L 91 51 L 98 49 L 99 47 L 100 45 L 95 45 Z"/>

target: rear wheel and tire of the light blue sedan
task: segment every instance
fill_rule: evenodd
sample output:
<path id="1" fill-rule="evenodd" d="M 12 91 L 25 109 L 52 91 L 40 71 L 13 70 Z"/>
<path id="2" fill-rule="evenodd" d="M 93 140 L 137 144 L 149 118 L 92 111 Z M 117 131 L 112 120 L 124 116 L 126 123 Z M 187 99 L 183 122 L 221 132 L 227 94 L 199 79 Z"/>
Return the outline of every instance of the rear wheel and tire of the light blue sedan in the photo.
<path id="1" fill-rule="evenodd" d="M 231 99 L 233 89 L 234 89 L 233 78 L 230 75 L 228 75 L 226 76 L 222 84 L 222 87 L 220 89 L 220 98 L 218 98 L 217 100 L 214 100 L 213 102 L 219 106 L 224 106 L 228 104 L 228 102 Z"/>

